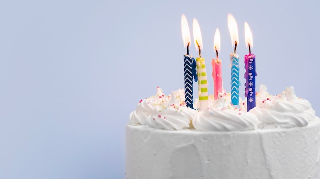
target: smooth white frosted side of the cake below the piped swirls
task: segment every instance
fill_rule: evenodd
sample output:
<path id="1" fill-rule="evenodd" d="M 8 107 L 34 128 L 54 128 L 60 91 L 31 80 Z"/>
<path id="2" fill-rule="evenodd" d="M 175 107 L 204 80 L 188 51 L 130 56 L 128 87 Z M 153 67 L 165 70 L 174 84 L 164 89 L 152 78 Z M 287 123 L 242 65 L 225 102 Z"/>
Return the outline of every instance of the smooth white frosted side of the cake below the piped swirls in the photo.
<path id="1" fill-rule="evenodd" d="M 320 120 L 214 132 L 126 125 L 126 178 L 317 178 Z"/>

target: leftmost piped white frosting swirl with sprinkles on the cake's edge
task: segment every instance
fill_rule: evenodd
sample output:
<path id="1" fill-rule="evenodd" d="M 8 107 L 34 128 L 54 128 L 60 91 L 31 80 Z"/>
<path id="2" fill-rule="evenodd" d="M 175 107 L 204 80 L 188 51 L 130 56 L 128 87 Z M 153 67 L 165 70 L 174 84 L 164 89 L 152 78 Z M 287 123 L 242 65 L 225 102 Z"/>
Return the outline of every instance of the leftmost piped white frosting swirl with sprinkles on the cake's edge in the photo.
<path id="1" fill-rule="evenodd" d="M 140 100 L 136 110 L 130 114 L 131 124 L 146 125 L 147 117 L 153 112 L 153 109 L 159 105 L 165 105 L 169 102 L 169 96 L 167 97 L 162 93 L 161 88 L 157 87 L 155 96 Z"/>

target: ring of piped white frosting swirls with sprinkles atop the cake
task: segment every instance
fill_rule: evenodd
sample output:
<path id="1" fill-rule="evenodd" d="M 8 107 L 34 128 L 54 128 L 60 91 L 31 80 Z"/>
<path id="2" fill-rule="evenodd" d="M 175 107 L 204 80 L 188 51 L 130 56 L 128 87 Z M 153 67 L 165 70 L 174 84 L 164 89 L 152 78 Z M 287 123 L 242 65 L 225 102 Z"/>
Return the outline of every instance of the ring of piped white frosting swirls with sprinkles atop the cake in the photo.
<path id="1" fill-rule="evenodd" d="M 166 130 L 223 132 L 301 127 L 316 118 L 311 104 L 296 97 L 293 87 L 288 87 L 278 95 L 270 95 L 267 87 L 260 85 L 256 93 L 257 106 L 249 112 L 246 101 L 243 100 L 241 105 L 236 107 L 230 103 L 229 93 L 219 93 L 216 100 L 209 96 L 209 105 L 199 112 L 186 106 L 184 90 L 165 95 L 161 88 L 157 87 L 156 95 L 139 101 L 136 110 L 130 114 L 130 123 Z M 198 104 L 198 99 L 195 99 L 196 109 Z"/>

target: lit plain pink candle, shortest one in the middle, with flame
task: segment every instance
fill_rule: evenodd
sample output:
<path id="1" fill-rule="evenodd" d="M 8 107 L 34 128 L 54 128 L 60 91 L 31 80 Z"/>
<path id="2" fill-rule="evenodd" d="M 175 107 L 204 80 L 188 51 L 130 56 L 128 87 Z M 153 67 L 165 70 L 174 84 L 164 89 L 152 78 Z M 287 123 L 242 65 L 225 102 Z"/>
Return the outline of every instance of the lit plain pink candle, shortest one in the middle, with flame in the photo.
<path id="1" fill-rule="evenodd" d="M 220 31 L 217 28 L 216 33 L 214 36 L 214 43 L 213 43 L 213 50 L 216 51 L 217 58 L 212 59 L 212 78 L 213 78 L 213 85 L 214 85 L 214 97 L 215 99 L 218 98 L 218 94 L 222 93 L 222 62 L 219 59 L 218 52 L 220 52 Z"/>

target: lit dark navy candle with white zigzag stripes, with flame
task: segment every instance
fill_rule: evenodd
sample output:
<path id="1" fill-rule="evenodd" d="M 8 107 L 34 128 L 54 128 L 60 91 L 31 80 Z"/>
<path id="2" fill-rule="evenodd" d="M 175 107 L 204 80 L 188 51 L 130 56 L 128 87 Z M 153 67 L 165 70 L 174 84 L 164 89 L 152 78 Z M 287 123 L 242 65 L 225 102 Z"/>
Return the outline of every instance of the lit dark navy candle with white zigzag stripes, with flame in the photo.
<path id="1" fill-rule="evenodd" d="M 191 39 L 187 18 L 184 14 L 182 14 L 181 18 L 181 28 L 184 46 L 187 48 L 187 54 L 184 54 L 185 103 L 187 107 L 193 109 L 193 77 L 194 81 L 197 81 L 198 78 L 196 74 L 196 60 L 192 57 L 192 55 L 189 55 L 189 45 Z"/>

